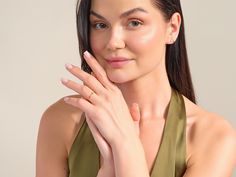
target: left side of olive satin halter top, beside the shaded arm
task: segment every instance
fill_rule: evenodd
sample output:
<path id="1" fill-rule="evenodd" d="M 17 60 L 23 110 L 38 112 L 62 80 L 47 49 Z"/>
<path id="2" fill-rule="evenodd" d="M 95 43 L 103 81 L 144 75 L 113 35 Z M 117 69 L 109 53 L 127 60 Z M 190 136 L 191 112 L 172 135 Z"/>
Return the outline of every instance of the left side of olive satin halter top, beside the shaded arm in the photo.
<path id="1" fill-rule="evenodd" d="M 99 149 L 84 116 L 84 122 L 68 157 L 69 177 L 96 177 L 99 171 Z"/>

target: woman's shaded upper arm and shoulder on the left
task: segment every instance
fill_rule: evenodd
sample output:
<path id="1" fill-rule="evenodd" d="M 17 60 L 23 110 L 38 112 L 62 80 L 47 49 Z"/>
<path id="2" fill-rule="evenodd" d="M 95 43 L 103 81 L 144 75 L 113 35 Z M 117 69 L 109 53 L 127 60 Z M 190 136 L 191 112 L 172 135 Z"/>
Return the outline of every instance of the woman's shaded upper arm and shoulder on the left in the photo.
<path id="1" fill-rule="evenodd" d="M 36 177 L 67 177 L 68 152 L 76 135 L 81 111 L 62 100 L 42 115 L 36 148 Z"/>

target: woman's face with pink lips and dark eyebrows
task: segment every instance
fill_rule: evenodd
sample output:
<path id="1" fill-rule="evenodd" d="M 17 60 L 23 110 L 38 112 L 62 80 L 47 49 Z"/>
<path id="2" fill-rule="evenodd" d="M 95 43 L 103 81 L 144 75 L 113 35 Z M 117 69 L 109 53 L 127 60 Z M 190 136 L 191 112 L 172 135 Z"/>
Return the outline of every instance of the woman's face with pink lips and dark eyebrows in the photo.
<path id="1" fill-rule="evenodd" d="M 92 51 L 112 82 L 164 71 L 168 22 L 151 0 L 92 0 L 90 24 Z"/>

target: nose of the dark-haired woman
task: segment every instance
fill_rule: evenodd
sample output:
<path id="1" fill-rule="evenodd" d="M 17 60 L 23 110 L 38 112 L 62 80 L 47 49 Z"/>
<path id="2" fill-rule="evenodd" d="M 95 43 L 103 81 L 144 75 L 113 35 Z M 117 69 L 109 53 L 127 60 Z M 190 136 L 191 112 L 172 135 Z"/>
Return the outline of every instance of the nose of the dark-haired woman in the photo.
<path id="1" fill-rule="evenodd" d="M 112 28 L 107 41 L 108 50 L 125 48 L 124 34 L 122 28 Z"/>

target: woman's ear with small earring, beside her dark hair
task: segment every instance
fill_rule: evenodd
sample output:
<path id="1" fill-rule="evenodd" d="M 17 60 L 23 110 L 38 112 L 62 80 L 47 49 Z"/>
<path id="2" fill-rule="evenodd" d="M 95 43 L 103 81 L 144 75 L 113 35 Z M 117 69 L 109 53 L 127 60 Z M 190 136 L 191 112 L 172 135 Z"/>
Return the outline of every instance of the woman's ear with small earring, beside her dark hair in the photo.
<path id="1" fill-rule="evenodd" d="M 174 13 L 169 20 L 167 29 L 166 44 L 173 44 L 179 35 L 181 25 L 181 15 L 179 13 Z"/>

